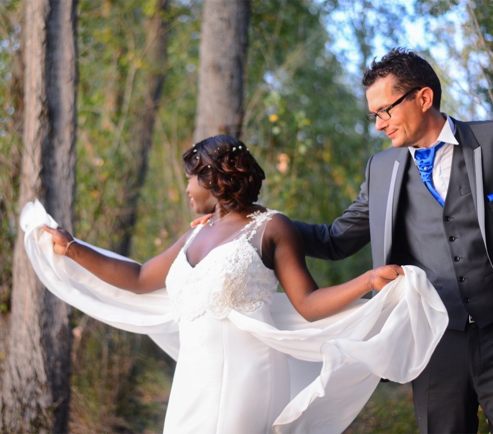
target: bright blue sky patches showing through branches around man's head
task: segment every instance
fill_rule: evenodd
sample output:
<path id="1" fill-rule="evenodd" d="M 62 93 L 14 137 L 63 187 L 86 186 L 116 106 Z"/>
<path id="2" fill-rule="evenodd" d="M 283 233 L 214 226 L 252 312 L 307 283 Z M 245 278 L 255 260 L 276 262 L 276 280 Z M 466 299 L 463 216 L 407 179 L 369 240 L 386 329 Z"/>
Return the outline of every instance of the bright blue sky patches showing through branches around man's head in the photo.
<path id="1" fill-rule="evenodd" d="M 457 57 L 457 54 L 464 56 L 464 46 L 475 41 L 475 34 L 468 27 L 470 21 L 467 0 L 460 0 L 450 12 L 440 17 L 440 20 L 427 17 L 411 19 L 414 1 L 410 0 L 373 0 L 372 4 L 375 8 L 385 5 L 395 11 L 399 7 L 407 10 L 409 16 L 404 16 L 402 27 L 394 29 L 397 36 L 396 45 L 430 53 L 430 57 L 427 55 L 425 57 L 433 65 L 442 81 L 443 111 L 463 120 L 493 119 L 489 106 L 474 94 L 471 86 L 471 83 L 481 79 L 479 65 L 487 65 L 487 59 L 474 53 L 471 53 L 466 61 L 458 61 Z M 358 15 L 362 13 L 362 10 L 359 2 L 348 2 L 345 9 L 345 11 L 336 10 L 330 15 L 327 29 L 336 38 L 330 50 L 335 52 L 350 72 L 351 75 L 345 78 L 348 80 L 348 85 L 356 92 L 361 92 L 361 97 L 364 98 L 362 89 L 355 85 L 359 84 L 362 59 L 351 25 L 353 19 L 360 18 Z M 368 22 L 378 22 L 377 13 L 377 9 L 366 10 L 365 19 Z M 377 58 L 384 55 L 388 48 L 394 46 L 394 43 L 388 41 L 383 34 L 377 34 L 372 44 L 374 46 L 372 57 Z M 454 53 L 457 54 L 454 55 Z M 485 80 L 482 80 L 482 83 L 486 85 Z"/>

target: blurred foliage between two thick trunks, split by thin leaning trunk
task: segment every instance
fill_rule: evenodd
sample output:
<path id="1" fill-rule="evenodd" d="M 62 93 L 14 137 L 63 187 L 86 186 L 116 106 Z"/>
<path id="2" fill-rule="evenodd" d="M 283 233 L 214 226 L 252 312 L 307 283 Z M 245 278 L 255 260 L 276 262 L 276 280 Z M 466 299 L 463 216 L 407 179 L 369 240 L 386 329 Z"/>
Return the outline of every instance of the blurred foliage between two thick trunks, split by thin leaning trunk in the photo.
<path id="1" fill-rule="evenodd" d="M 130 141 L 141 116 L 146 83 L 140 77 L 149 68 L 144 26 L 153 5 L 152 1 L 80 2 L 77 231 L 106 247 L 122 235 L 114 232 L 113 224 L 127 205 L 122 184 L 135 177 Z M 132 254 L 140 260 L 169 245 L 186 227 L 183 214 L 189 216 L 180 201 L 184 188 L 180 185 L 177 192 L 176 179 L 182 179 L 180 155 L 189 147 L 193 131 L 199 12 L 194 3 L 172 2 L 165 16 L 172 61 L 162 65 L 164 100 L 133 243 Z M 149 242 L 153 235 L 158 237 L 155 243 Z"/>

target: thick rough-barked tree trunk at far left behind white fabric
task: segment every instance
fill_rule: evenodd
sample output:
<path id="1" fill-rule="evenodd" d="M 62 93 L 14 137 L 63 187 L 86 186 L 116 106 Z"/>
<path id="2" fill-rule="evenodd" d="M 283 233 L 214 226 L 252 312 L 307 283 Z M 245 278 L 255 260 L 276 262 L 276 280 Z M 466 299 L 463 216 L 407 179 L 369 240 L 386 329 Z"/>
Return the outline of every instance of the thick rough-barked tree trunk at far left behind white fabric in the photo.
<path id="1" fill-rule="evenodd" d="M 19 207 L 36 197 L 72 230 L 76 132 L 76 1 L 24 3 L 24 150 Z M 71 308 L 14 250 L 11 325 L 0 395 L 5 432 L 68 431 Z"/>

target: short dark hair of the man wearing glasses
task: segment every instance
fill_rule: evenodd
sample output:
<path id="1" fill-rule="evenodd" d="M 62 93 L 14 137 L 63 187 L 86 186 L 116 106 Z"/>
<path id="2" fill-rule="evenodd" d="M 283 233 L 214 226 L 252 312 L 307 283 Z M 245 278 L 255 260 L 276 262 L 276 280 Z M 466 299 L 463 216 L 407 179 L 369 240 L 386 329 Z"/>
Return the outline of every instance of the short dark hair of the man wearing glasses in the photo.
<path id="1" fill-rule="evenodd" d="M 429 87 L 433 91 L 433 107 L 440 110 L 440 80 L 431 65 L 414 51 L 397 47 L 390 50 L 379 62 L 374 58 L 366 68 L 361 84 L 368 89 L 375 81 L 388 74 L 395 77 L 394 89 L 402 93 L 410 91 L 413 87 Z M 415 94 L 412 92 L 408 98 L 413 99 Z"/>

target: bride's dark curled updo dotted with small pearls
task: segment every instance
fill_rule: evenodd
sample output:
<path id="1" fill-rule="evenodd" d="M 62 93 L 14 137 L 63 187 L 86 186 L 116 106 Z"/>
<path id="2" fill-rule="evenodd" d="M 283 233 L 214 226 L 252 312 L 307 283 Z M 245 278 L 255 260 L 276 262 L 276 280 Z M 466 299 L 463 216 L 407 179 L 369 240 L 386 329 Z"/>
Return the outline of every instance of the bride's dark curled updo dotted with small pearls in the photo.
<path id="1" fill-rule="evenodd" d="M 183 154 L 185 172 L 197 175 L 228 211 L 243 211 L 258 199 L 265 173 L 246 145 L 233 137 L 214 136 Z"/>

